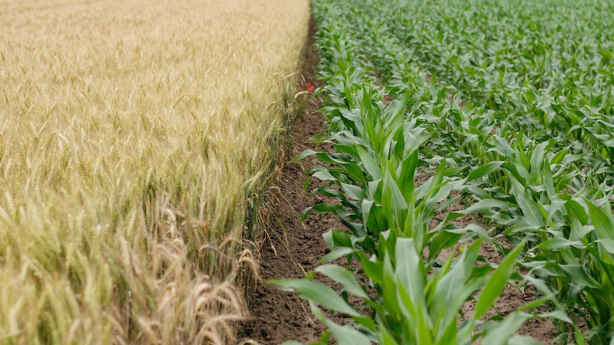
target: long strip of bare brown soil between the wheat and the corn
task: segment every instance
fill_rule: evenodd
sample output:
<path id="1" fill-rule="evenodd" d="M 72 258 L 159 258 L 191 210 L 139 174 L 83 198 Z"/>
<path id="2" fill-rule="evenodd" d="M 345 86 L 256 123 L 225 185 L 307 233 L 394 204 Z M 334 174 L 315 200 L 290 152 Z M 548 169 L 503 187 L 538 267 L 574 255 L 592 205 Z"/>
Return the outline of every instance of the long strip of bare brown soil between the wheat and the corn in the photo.
<path id="1" fill-rule="evenodd" d="M 299 83 L 303 86 L 311 83 L 316 87 L 321 82 L 316 80 L 316 63 L 318 53 L 313 47 L 315 23 L 310 22 L 309 38 L 304 49 Z M 318 109 L 322 107 L 316 97 L 306 95 L 304 109 L 293 123 L 293 154 L 304 149 L 314 149 L 308 139 L 323 132 L 321 116 Z M 301 212 L 308 206 L 318 203 L 309 191 L 321 186 L 320 181 L 311 181 L 307 192 L 303 193 L 306 171 L 316 164 L 315 158 L 303 159 L 297 163 L 283 166 L 279 185 L 279 208 L 271 217 L 268 240 L 261 249 L 261 277 L 263 280 L 281 278 L 303 278 L 307 272 L 314 270 L 328 247 L 322 238 L 330 228 L 341 228 L 340 222 L 333 216 L 311 213 L 301 223 Z M 261 282 L 256 286 L 250 303 L 251 319 L 243 324 L 239 339 L 253 339 L 259 344 L 280 344 L 283 341 L 296 340 L 303 343 L 318 341 L 326 330 L 318 321 L 307 302 L 296 294 L 282 292 L 274 285 Z"/>

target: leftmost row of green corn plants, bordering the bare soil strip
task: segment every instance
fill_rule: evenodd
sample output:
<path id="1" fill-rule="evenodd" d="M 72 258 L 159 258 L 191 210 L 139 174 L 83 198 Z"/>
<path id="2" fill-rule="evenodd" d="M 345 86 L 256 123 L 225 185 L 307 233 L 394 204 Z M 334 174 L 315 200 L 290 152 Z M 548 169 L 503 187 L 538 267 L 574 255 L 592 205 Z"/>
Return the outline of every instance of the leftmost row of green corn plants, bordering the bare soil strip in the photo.
<path id="1" fill-rule="evenodd" d="M 490 174 L 500 164 L 477 167 L 464 179 L 452 176 L 457 169 L 447 169 L 447 159 L 439 159 L 437 167 L 430 166 L 422 159 L 421 149 L 434 127 L 406 113 L 407 105 L 415 101 L 410 100 L 410 93 L 385 106 L 383 92 L 373 87 L 365 71 L 355 64 L 352 43 L 343 33 L 327 32 L 319 44 L 327 43 L 331 60 L 322 75 L 325 80 L 330 77 L 331 84 L 325 87 L 328 106 L 323 112 L 330 129 L 323 140 L 331 142 L 337 152 L 308 151 L 297 159 L 316 154 L 321 161 L 333 164 L 330 169 L 316 167 L 311 173 L 340 187 L 316 191 L 338 204 L 320 203 L 306 210 L 334 213 L 350 230 L 333 229 L 325 235 L 331 253 L 323 261 L 346 257 L 348 265 L 358 260 L 361 268 L 353 271 L 329 264 L 316 270 L 340 282 L 339 293 L 313 282 L 313 274 L 306 280 L 276 284 L 308 299 L 339 344 L 471 344 L 480 337 L 489 344 L 529 340 L 514 336 L 514 331 L 527 319 L 537 317 L 526 311 L 552 299 L 551 295 L 512 312 L 503 322 L 495 322 L 499 317 L 481 320 L 510 278 L 519 277 L 514 267 L 523 246 L 511 250 L 499 265 L 475 265 L 484 260 L 478 251 L 489 236 L 477 225 L 460 229 L 446 224 L 473 211 L 507 204 L 484 201 L 449 213 L 436 228 L 429 225 L 437 209 L 454 202 L 452 191 L 462 191 L 468 182 Z M 435 173 L 416 186 L 419 169 L 434 169 Z M 477 240 L 464 247 L 457 260 L 453 255 L 444 262 L 437 260 L 442 250 L 472 238 Z M 479 296 L 474 297 L 476 292 Z M 360 306 L 350 304 L 348 294 L 360 297 Z M 472 298 L 477 299 L 476 312 L 462 317 L 459 324 L 462 304 Z M 334 324 L 318 304 L 352 317 L 355 324 Z M 326 341 L 328 334 L 323 335 L 321 344 Z"/>

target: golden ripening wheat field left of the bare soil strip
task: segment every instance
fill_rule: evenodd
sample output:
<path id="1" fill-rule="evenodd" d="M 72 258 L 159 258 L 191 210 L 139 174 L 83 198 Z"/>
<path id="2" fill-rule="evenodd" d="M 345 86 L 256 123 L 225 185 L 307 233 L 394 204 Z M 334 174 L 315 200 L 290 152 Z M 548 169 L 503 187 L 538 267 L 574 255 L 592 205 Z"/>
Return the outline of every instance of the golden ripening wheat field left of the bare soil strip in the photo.
<path id="1" fill-rule="evenodd" d="M 0 1 L 0 344 L 225 344 L 307 0 Z"/>

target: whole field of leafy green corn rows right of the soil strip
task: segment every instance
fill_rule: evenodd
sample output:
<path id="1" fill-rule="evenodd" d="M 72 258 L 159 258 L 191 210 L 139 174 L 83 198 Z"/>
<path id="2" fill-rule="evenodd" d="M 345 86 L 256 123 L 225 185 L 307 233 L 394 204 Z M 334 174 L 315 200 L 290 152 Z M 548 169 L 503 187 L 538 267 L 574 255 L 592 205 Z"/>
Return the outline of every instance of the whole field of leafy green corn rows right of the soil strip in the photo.
<path id="1" fill-rule="evenodd" d="M 314 140 L 333 149 L 298 159 L 323 163 L 315 192 L 333 201 L 306 213 L 345 228 L 316 269 L 335 288 L 276 284 L 328 326 L 318 344 L 539 344 L 518 329 L 540 319 L 556 327 L 543 341 L 610 344 L 614 3 L 312 6 L 328 124 Z M 494 309 L 510 289 L 531 297 Z"/>

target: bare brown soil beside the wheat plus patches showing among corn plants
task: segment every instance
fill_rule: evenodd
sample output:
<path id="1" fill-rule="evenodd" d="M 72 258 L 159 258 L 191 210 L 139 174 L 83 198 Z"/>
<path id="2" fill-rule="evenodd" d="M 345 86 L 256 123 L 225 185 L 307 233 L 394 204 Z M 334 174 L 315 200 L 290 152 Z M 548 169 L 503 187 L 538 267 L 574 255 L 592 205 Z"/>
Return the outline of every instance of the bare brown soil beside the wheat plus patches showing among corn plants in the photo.
<path id="1" fill-rule="evenodd" d="M 316 87 L 321 86 L 321 81 L 316 80 L 318 52 L 314 46 L 316 26 L 313 17 L 309 23 L 309 32 L 306 45 L 303 48 L 301 69 L 299 70 L 299 83 L 311 83 Z M 301 85 L 304 87 L 304 85 Z M 323 106 L 322 103 L 311 95 L 303 96 L 307 99 L 303 102 L 303 109 L 291 126 L 291 139 L 294 147 L 293 156 L 305 149 L 316 149 L 308 139 L 323 132 L 323 124 L 320 113 L 317 111 Z M 319 147 L 319 149 L 331 149 L 331 147 Z M 318 215 L 312 212 L 301 223 L 301 212 L 308 206 L 323 201 L 321 197 L 312 196 L 311 191 L 324 186 L 325 183 L 317 179 L 311 179 L 307 190 L 303 192 L 303 184 L 306 180 L 306 171 L 318 164 L 318 160 L 310 156 L 294 163 L 286 163 L 282 167 L 279 180 L 279 193 L 277 197 L 277 209 L 270 216 L 267 225 L 266 240 L 260 251 L 260 276 L 263 281 L 254 287 L 251 300 L 249 301 L 250 317 L 239 324 L 239 339 L 243 344 L 281 344 L 283 341 L 296 340 L 308 344 L 320 339 L 324 326 L 313 316 L 308 302 L 299 298 L 292 292 L 283 292 L 274 285 L 266 283 L 266 280 L 281 278 L 303 278 L 306 273 L 318 267 L 318 261 L 328 253 L 328 246 L 322 235 L 331 228 L 343 229 L 344 226 L 335 216 L 330 214 Z M 420 182 L 420 181 L 418 181 Z M 452 206 L 461 209 L 463 206 Z M 448 211 L 452 211 L 449 209 Z M 445 214 L 438 214 L 437 218 L 445 218 Z M 478 216 L 469 215 L 460 219 L 459 226 L 468 223 L 479 223 Z M 455 250 L 449 250 L 442 255 L 450 255 Z M 484 245 L 480 251 L 489 262 L 500 262 L 500 257 L 489 245 Z M 343 265 L 341 261 L 336 262 Z M 331 280 L 322 275 L 316 275 L 315 280 L 335 287 Z M 504 293 L 495 303 L 487 315 L 496 314 L 502 316 L 514 311 L 521 305 L 534 300 L 535 294 L 531 289 L 521 291 L 513 287 L 506 287 Z M 472 313 L 475 301 L 466 302 L 463 306 L 465 314 Z M 335 315 L 333 320 L 338 323 L 346 323 L 349 320 Z M 550 320 L 533 319 L 526 322 L 518 334 L 533 336 L 543 344 L 548 344 L 554 338 L 556 329 Z"/>

